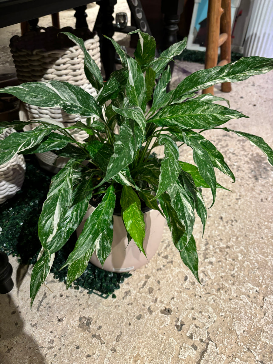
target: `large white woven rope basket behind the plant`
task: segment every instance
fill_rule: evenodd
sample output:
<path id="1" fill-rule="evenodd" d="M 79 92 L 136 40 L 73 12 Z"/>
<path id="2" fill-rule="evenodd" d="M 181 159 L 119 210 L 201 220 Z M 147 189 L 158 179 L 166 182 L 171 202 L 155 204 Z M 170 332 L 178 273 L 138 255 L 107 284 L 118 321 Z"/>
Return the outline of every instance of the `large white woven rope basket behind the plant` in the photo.
<path id="1" fill-rule="evenodd" d="M 82 50 L 66 35 L 60 32 L 70 32 L 84 40 L 84 45 L 95 60 L 99 68 L 100 47 L 99 37 L 87 28 L 72 29 L 70 27 L 56 29 L 54 27 L 39 28 L 39 31 L 27 32 L 23 36 L 13 36 L 10 42 L 13 62 L 16 67 L 17 78 L 20 83 L 35 81 L 66 81 L 82 87 L 92 96 L 96 90 L 91 86 L 84 74 L 84 56 Z M 68 115 L 59 107 L 44 108 L 21 103 L 19 118 L 22 121 L 39 118 L 50 118 L 68 127 L 81 120 L 86 123 L 86 118 L 80 115 Z M 31 130 L 37 124 L 25 127 Z M 78 142 L 83 142 L 88 135 L 84 131 L 74 134 Z M 67 158 L 59 157 L 52 152 L 36 154 L 42 167 L 54 173 L 58 172 L 67 163 Z"/>

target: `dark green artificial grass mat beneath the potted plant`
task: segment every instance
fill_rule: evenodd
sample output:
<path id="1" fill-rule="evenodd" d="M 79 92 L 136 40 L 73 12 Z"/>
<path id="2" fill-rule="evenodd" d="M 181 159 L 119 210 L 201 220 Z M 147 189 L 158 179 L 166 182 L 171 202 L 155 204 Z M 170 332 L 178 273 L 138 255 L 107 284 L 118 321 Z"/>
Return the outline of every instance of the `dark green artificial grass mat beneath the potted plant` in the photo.
<path id="1" fill-rule="evenodd" d="M 21 191 L 0 206 L 0 250 L 17 256 L 21 264 L 35 264 L 41 249 L 38 238 L 38 219 L 50 186 L 52 173 L 41 169 L 33 155 L 26 155 L 25 181 Z M 51 268 L 54 278 L 66 283 L 67 269 L 59 270 L 65 263 L 69 252 L 75 246 L 76 233 L 72 234 L 64 247 L 56 252 Z M 130 273 L 112 273 L 99 269 L 91 263 L 73 285 L 83 287 L 87 293 L 95 293 L 107 298 L 115 298 L 115 290 L 120 288 L 124 278 Z"/>

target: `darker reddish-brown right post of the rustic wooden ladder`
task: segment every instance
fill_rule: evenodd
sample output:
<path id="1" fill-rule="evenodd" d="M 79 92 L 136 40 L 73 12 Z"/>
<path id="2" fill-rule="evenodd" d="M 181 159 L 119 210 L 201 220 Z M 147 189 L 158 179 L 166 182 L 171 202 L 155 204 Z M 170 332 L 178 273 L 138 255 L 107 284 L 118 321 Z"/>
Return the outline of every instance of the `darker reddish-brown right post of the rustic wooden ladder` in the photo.
<path id="1" fill-rule="evenodd" d="M 226 60 L 226 63 L 231 62 L 231 0 L 222 0 L 222 8 L 224 13 L 220 21 L 220 33 L 226 33 L 227 39 L 221 46 L 221 61 Z M 230 92 L 230 82 L 224 82 L 221 85 L 221 91 Z"/>

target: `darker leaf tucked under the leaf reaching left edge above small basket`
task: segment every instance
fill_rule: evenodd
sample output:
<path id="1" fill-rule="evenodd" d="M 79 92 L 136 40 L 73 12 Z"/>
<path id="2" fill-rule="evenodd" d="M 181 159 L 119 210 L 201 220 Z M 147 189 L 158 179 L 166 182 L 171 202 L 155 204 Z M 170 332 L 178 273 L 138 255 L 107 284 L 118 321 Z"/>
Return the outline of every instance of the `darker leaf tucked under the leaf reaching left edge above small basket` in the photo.
<path id="1" fill-rule="evenodd" d="M 59 150 L 71 143 L 72 140 L 66 135 L 61 135 L 57 133 L 50 133 L 43 140 L 32 148 L 25 149 L 19 152 L 19 154 L 33 154 L 33 153 L 44 153 L 51 150 Z"/>

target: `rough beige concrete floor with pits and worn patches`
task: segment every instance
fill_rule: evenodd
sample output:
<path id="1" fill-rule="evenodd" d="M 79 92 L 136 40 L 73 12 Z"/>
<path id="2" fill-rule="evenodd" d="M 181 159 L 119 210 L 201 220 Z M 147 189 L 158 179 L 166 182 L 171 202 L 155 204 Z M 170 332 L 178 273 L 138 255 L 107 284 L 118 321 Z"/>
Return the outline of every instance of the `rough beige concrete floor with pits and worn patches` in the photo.
<path id="1" fill-rule="evenodd" d="M 1 39 L 14 29 L 2 29 Z M 9 57 L 1 72 L 11 66 Z M 202 67 L 178 62 L 173 86 Z M 215 95 L 250 116 L 226 126 L 272 146 L 272 85 L 273 72 L 233 84 L 229 94 L 216 86 Z M 219 130 L 205 136 L 225 156 L 236 183 L 217 173 L 233 192 L 217 191 L 203 239 L 199 221 L 194 228 L 202 285 L 183 266 L 167 226 L 157 254 L 124 281 L 115 299 L 66 290 L 49 276 L 31 311 L 29 271 L 19 292 L 0 297 L 1 363 L 273 363 L 273 168 L 243 138 Z M 192 161 L 189 148 L 181 147 L 181 160 Z M 204 195 L 209 206 L 210 192 Z M 15 281 L 18 264 L 10 261 Z"/>

